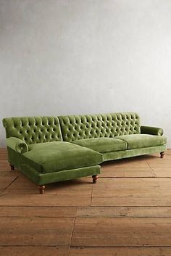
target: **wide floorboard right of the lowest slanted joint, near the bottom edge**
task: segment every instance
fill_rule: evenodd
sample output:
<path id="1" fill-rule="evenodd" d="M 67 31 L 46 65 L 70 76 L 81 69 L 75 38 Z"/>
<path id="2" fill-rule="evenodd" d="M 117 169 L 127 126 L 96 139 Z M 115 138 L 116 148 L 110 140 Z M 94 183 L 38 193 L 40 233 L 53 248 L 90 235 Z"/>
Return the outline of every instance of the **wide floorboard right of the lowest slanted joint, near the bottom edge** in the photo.
<path id="1" fill-rule="evenodd" d="M 76 218 L 73 247 L 171 247 L 171 218 Z"/>

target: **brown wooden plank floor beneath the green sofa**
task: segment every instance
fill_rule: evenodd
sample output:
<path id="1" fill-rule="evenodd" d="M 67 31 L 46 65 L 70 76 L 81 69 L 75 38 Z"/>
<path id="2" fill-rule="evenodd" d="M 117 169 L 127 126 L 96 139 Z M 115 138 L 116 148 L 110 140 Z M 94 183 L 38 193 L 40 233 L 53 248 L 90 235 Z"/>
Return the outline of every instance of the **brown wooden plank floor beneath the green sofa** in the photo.
<path id="1" fill-rule="evenodd" d="M 0 149 L 1 256 L 170 256 L 171 150 L 106 162 L 91 177 L 35 183 Z"/>

